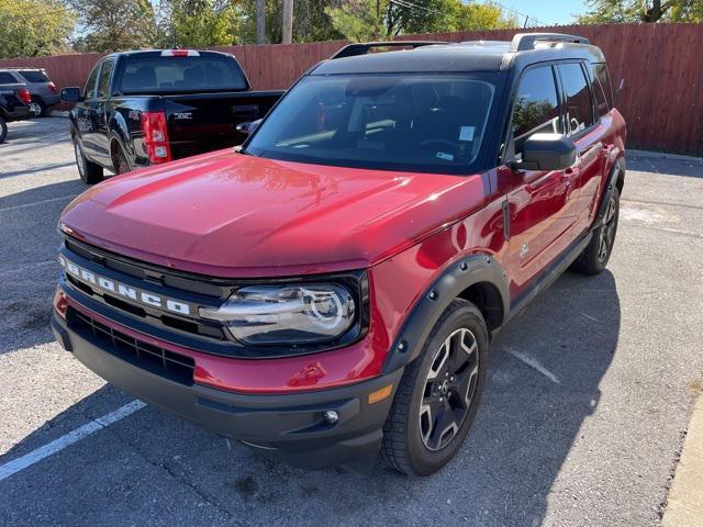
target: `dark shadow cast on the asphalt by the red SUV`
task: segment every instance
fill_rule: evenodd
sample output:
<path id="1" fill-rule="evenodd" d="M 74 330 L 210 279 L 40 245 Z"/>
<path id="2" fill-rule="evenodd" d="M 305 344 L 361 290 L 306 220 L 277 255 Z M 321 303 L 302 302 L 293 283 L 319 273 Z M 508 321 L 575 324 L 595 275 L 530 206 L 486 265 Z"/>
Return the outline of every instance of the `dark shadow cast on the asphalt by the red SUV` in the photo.
<path id="1" fill-rule="evenodd" d="M 458 458 L 432 478 L 382 466 L 368 478 L 293 469 L 147 407 L 0 482 L 1 508 L 10 523 L 41 516 L 58 524 L 119 517 L 168 525 L 200 511 L 196 525 L 330 518 L 339 525 L 539 525 L 579 430 L 599 404 L 620 325 L 610 271 L 561 277 L 494 340 L 475 427 Z M 113 388 L 99 390 L 0 462 L 54 439 L 46 431 L 54 423 L 76 413 L 94 418 L 130 400 Z"/>

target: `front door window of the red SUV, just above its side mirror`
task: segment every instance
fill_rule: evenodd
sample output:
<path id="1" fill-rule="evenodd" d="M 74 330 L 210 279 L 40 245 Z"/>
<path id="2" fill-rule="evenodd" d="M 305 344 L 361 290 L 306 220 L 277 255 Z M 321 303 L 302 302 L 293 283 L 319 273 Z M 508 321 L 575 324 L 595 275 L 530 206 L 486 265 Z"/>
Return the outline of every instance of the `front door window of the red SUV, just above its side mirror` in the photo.
<path id="1" fill-rule="evenodd" d="M 551 66 L 525 71 L 517 85 L 513 105 L 513 135 L 515 152 L 532 134 L 562 133 L 559 119 L 559 99 Z"/>

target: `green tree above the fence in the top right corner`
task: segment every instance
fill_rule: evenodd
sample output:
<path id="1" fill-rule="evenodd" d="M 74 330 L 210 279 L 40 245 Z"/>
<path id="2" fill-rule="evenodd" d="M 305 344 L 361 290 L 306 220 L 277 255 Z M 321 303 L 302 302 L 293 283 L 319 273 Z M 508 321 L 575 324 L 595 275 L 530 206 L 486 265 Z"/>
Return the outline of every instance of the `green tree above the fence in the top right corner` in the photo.
<path id="1" fill-rule="evenodd" d="M 580 24 L 625 22 L 702 22 L 703 0 L 588 0 Z"/>

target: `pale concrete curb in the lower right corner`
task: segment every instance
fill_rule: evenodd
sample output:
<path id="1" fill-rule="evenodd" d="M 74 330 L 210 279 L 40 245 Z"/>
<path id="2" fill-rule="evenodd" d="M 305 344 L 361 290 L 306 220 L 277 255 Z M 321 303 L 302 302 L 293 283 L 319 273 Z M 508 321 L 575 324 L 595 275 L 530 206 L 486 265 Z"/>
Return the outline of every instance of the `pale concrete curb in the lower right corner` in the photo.
<path id="1" fill-rule="evenodd" d="M 662 527 L 703 525 L 703 396 L 699 396 L 673 475 Z"/>

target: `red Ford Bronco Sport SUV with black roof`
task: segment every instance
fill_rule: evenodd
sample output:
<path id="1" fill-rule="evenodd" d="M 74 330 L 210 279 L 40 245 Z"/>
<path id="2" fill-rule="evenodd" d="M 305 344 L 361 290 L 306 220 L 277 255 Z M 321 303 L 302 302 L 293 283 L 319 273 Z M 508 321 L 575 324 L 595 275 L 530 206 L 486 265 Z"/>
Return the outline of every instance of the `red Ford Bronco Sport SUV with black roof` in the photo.
<path id="1" fill-rule="evenodd" d="M 309 70 L 237 152 L 70 203 L 57 340 L 293 464 L 447 463 L 491 336 L 567 268 L 605 267 L 625 123 L 581 37 L 379 45 Z"/>

